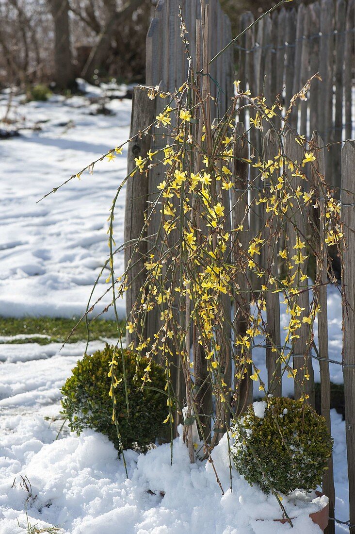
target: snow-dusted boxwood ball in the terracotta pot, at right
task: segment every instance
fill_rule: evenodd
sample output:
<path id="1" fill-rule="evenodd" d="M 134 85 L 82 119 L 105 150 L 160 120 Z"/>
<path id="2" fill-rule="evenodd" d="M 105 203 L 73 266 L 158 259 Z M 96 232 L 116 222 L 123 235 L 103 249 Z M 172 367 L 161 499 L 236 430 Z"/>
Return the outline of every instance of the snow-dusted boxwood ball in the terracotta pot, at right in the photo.
<path id="1" fill-rule="evenodd" d="M 321 483 L 333 439 L 324 417 L 309 405 L 287 397 L 268 397 L 250 405 L 239 423 L 242 429 L 238 425 L 233 428 L 232 457 L 250 484 L 270 492 L 247 439 L 276 491 L 312 490 Z"/>

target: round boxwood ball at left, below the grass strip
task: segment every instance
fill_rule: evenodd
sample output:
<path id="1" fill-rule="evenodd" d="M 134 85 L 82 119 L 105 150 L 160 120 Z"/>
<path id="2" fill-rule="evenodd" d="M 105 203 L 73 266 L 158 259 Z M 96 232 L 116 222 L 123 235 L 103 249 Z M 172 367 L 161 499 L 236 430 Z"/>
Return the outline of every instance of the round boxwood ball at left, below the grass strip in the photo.
<path id="1" fill-rule="evenodd" d="M 147 360 L 141 359 L 138 363 L 135 379 L 137 360 L 129 350 L 123 351 L 129 414 L 121 351 L 117 353 L 117 349 L 108 344 L 104 350 L 98 350 L 92 356 L 85 355 L 77 362 L 72 370 L 72 376 L 61 389 L 62 413 L 68 418 L 70 429 L 77 434 L 84 428 L 92 428 L 106 434 L 116 449 L 120 449 L 117 430 L 112 420 L 112 398 L 109 396 L 111 378 L 108 376 L 108 371 L 114 350 L 117 360 L 115 379 L 119 382 L 114 389 L 116 418 L 119 422 L 122 445 L 124 449 L 130 449 L 138 444 L 139 448 L 145 451 L 149 443 L 154 443 L 156 438 L 163 434 L 163 421 L 167 417 L 167 397 L 163 393 L 165 377 L 163 369 L 152 362 L 149 387 L 141 389 L 141 378 Z"/>

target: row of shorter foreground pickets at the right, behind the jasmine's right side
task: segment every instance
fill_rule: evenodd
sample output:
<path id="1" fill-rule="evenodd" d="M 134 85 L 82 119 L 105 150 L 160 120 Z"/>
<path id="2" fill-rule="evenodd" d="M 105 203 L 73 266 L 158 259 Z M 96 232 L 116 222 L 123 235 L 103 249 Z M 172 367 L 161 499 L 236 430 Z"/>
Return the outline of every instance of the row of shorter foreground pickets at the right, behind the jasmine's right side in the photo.
<path id="1" fill-rule="evenodd" d="M 241 158 L 246 155 L 246 128 L 243 123 L 236 123 L 235 125 L 236 140 L 234 144 L 234 155 L 236 158 Z M 284 139 L 285 155 L 290 161 L 302 161 L 304 150 L 297 143 L 295 133 L 289 129 Z M 324 217 L 324 198 L 320 191 L 318 176 L 322 177 L 325 184 L 328 183 L 328 177 L 325 166 L 326 148 L 324 141 L 317 131 L 313 131 L 310 147 L 315 156 L 314 166 L 312 170 L 312 189 L 314 197 L 319 198 L 319 207 L 316 209 L 311 206 L 309 213 L 301 214 L 299 210 L 295 210 L 294 219 L 301 234 L 306 235 L 311 243 L 314 245 L 315 254 L 322 258 L 321 271 L 321 285 L 316 289 L 318 292 L 318 303 L 321 312 L 318 315 L 318 350 L 314 354 L 313 351 L 307 358 L 307 371 L 310 375 L 310 380 L 306 382 L 304 391 L 309 395 L 309 403 L 314 406 L 314 373 L 312 360 L 319 361 L 320 368 L 320 383 L 321 383 L 321 414 L 326 418 L 329 432 L 331 433 L 330 425 L 330 374 L 329 374 L 329 356 L 328 356 L 328 310 L 327 310 L 327 286 L 330 281 L 327 270 L 329 272 L 328 258 L 326 250 L 322 250 L 320 246 L 319 232 L 321 231 L 320 218 Z M 278 154 L 279 142 L 277 134 L 274 130 L 269 130 L 263 139 L 263 152 L 265 160 L 272 160 Z M 248 164 L 236 160 L 234 179 L 235 187 L 238 189 L 231 190 L 231 222 L 233 227 L 240 224 L 241 217 L 245 210 L 245 199 L 247 198 L 247 190 L 250 185 L 248 182 Z M 341 150 L 341 164 L 342 172 L 340 177 L 341 183 L 341 214 L 342 225 L 346 247 L 343 250 L 343 279 L 342 279 L 342 317 L 343 317 L 343 350 L 342 361 L 332 362 L 330 365 L 342 365 L 344 373 L 344 398 L 345 398 L 345 426 L 346 426 L 346 444 L 348 451 L 348 476 L 349 476 L 349 502 L 350 502 L 350 524 L 355 525 L 355 141 L 348 140 L 344 142 Z M 289 171 L 291 175 L 291 172 Z M 291 176 L 289 176 L 291 178 Z M 294 177 L 293 185 L 296 188 L 298 185 L 302 187 L 302 179 Z M 245 191 L 245 193 L 243 192 Z M 307 219 L 309 223 L 307 224 Z M 295 229 L 293 224 L 288 225 L 288 239 L 289 242 L 295 241 Z M 248 227 L 243 233 L 248 233 Z M 265 231 L 266 229 L 264 229 Z M 277 229 L 269 228 L 267 232 L 276 234 Z M 294 234 L 294 235 L 293 235 Z M 254 233 L 251 233 L 254 235 Z M 266 238 L 266 234 L 264 235 Z M 243 239 L 243 238 L 242 238 Z M 246 242 L 248 242 L 248 237 Z M 275 239 L 275 237 L 274 237 Z M 245 248 L 245 245 L 242 247 Z M 273 249 L 273 244 L 270 244 L 269 250 Z M 273 258 L 266 258 L 265 264 L 271 265 L 271 274 L 278 276 L 278 249 L 275 248 Z M 246 281 L 241 277 L 239 281 L 240 287 L 247 290 Z M 266 322 L 267 334 L 271 343 L 267 343 L 265 350 L 266 368 L 268 387 L 273 382 L 275 370 L 277 370 L 275 352 L 272 351 L 272 345 L 275 347 L 282 347 L 280 335 L 280 302 L 279 294 L 266 292 Z M 298 296 L 298 305 L 307 310 L 310 308 L 310 291 L 301 292 Z M 306 324 L 302 325 L 297 331 L 299 337 L 295 340 L 293 346 L 294 369 L 304 365 L 303 355 L 307 354 L 308 346 L 308 332 Z M 276 371 L 277 373 L 277 371 Z M 281 382 L 273 388 L 273 394 L 277 396 L 282 395 Z M 299 397 L 295 388 L 295 398 Z M 335 489 L 334 489 L 334 475 L 333 475 L 333 459 L 330 458 L 328 470 L 325 472 L 323 480 L 323 490 L 329 497 L 329 516 L 334 517 L 335 505 Z M 334 522 L 330 522 L 326 530 L 327 534 L 334 533 Z M 355 533 L 355 527 L 350 527 L 350 533 Z"/>

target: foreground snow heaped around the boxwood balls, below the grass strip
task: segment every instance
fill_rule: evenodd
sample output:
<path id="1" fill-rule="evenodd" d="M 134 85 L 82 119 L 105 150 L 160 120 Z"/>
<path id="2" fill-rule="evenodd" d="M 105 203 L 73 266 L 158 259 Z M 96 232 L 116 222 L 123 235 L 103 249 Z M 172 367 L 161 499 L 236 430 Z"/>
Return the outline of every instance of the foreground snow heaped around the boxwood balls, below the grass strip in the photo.
<path id="1" fill-rule="evenodd" d="M 80 354 L 81 345 L 74 345 L 73 351 Z M 224 495 L 211 464 L 190 465 L 179 438 L 173 444 L 172 466 L 169 444 L 146 455 L 127 451 L 129 478 L 105 436 L 85 431 L 77 437 L 65 427 L 56 440 L 62 425 L 59 387 L 76 359 L 57 354 L 46 360 L 2 364 L 6 390 L 0 403 L 1 534 L 25 532 L 25 509 L 32 525 L 58 525 L 70 534 L 258 534 L 271 528 L 281 534 L 287 530 L 271 521 L 280 517 L 275 499 L 251 488 L 234 469 L 232 493 L 228 489 L 226 436 L 212 453 Z M 21 488 L 21 475 L 31 484 L 30 496 Z M 319 532 L 308 514 L 324 502 L 293 495 L 285 497 L 283 504 L 291 516 L 297 513 L 295 534 Z"/>

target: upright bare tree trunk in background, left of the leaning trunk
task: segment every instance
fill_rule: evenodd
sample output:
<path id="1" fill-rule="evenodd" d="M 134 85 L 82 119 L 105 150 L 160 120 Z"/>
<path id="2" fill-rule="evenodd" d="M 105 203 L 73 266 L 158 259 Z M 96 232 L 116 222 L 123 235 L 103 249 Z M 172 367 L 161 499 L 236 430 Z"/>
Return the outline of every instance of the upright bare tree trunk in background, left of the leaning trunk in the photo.
<path id="1" fill-rule="evenodd" d="M 70 51 L 68 0 L 48 0 L 54 21 L 54 81 L 58 89 L 75 85 L 72 53 Z"/>

